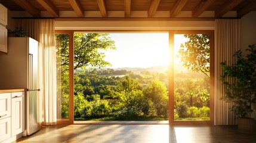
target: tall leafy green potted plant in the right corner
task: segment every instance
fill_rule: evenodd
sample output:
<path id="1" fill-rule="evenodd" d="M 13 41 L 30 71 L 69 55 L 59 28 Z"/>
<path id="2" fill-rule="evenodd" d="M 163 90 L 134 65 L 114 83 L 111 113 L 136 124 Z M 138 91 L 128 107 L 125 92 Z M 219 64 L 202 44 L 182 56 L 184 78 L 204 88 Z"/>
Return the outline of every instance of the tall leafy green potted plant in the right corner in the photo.
<path id="1" fill-rule="evenodd" d="M 221 100 L 232 103 L 230 110 L 238 116 L 238 130 L 252 133 L 256 130 L 255 120 L 251 117 L 254 111 L 252 104 L 256 102 L 255 45 L 249 45 L 246 53 L 245 55 L 241 50 L 236 51 L 233 57 L 237 60 L 231 66 L 226 61 L 221 62 L 221 82 L 225 86 L 225 94 Z"/>

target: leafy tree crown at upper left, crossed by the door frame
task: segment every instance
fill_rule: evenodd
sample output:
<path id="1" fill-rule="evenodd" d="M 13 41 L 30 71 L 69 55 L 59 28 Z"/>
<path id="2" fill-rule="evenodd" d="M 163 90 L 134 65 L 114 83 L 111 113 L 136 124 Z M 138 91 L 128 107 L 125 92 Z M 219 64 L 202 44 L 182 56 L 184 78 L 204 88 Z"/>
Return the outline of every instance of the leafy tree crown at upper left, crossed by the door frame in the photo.
<path id="1" fill-rule="evenodd" d="M 60 52 L 62 71 L 69 66 L 69 35 L 55 35 L 57 51 Z M 116 49 L 108 33 L 75 33 L 74 34 L 74 69 L 86 66 L 104 67 L 111 65 L 104 60 L 103 50 Z"/>

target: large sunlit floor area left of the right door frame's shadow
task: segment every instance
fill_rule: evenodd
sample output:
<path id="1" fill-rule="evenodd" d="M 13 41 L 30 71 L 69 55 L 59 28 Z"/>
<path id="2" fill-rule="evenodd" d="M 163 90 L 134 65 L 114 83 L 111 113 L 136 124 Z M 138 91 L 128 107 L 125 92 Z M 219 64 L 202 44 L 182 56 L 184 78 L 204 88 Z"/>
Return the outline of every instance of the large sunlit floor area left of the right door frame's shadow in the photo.
<path id="1" fill-rule="evenodd" d="M 169 142 L 169 125 L 69 125 L 58 129 L 45 127 L 22 140 L 21 142 Z"/>

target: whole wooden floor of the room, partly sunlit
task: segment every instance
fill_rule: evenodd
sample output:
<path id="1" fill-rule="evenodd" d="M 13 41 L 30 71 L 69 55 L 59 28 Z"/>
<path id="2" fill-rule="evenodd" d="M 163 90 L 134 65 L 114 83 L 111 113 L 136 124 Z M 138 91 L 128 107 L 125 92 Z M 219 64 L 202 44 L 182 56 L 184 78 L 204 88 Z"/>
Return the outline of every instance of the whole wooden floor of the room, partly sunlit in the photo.
<path id="1" fill-rule="evenodd" d="M 16 142 L 256 142 L 236 126 L 68 125 L 43 127 Z"/>

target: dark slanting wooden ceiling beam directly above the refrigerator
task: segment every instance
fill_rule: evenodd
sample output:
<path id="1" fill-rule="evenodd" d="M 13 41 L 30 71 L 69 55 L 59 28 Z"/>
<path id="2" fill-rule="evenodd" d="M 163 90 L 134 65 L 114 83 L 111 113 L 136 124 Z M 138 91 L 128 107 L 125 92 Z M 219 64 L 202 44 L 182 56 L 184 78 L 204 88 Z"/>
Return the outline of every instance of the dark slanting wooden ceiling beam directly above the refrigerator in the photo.
<path id="1" fill-rule="evenodd" d="M 37 10 L 32 4 L 30 4 L 27 1 L 23 0 L 13 0 L 17 5 L 19 5 L 21 8 L 23 8 L 25 11 L 27 11 L 29 14 L 31 14 L 33 17 L 40 17 L 41 13 L 39 10 Z"/>

